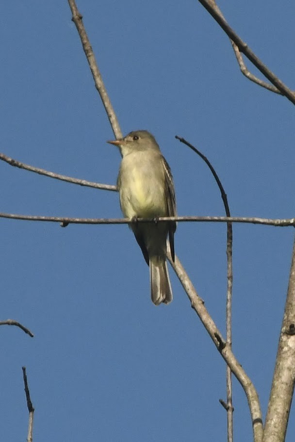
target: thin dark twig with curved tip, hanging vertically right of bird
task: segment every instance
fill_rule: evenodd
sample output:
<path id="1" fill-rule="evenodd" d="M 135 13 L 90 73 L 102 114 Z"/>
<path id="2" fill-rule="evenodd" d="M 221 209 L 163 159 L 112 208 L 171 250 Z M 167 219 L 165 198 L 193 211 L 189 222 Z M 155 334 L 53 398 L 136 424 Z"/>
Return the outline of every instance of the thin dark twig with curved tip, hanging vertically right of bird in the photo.
<path id="1" fill-rule="evenodd" d="M 176 135 L 178 140 L 186 146 L 190 147 L 199 157 L 204 160 L 204 162 L 208 165 L 211 170 L 215 181 L 220 190 L 221 198 L 223 201 L 225 213 L 230 217 L 229 211 L 229 202 L 227 194 L 223 188 L 221 181 L 207 157 L 202 154 L 195 146 L 186 141 L 184 138 Z M 227 223 L 227 301 L 226 301 L 226 331 L 227 331 L 227 345 L 231 348 L 231 298 L 232 298 L 232 224 L 230 222 Z M 231 382 L 231 371 L 229 366 L 226 366 L 226 380 L 227 380 L 227 423 L 228 423 L 228 442 L 233 441 L 233 407 L 232 407 L 232 382 Z"/>

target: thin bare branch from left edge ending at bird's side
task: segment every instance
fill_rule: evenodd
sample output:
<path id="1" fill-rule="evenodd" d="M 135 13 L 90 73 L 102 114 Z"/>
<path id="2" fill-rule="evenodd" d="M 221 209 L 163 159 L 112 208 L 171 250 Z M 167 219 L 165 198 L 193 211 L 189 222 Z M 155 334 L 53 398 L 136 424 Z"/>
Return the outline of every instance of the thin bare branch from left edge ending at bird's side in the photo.
<path id="1" fill-rule="evenodd" d="M 66 175 L 60 175 L 55 172 L 49 172 L 48 170 L 31 166 L 30 164 L 21 163 L 20 161 L 14 160 L 13 158 L 4 155 L 4 153 L 0 153 L 0 160 L 5 161 L 5 163 L 10 164 L 11 166 L 29 170 L 30 172 L 38 173 L 39 175 L 45 175 L 46 177 L 55 178 L 56 180 L 67 181 L 73 184 L 79 184 L 80 186 L 94 187 L 95 189 L 111 190 L 113 192 L 117 191 L 116 186 L 113 186 L 111 184 L 99 184 L 92 181 L 78 180 L 77 178 L 67 177 Z"/>

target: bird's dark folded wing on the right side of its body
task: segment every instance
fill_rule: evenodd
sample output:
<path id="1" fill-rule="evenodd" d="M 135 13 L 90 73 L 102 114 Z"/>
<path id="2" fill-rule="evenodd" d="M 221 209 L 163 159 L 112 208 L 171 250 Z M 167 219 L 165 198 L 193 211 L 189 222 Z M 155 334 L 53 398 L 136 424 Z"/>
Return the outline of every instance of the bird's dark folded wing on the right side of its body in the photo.
<path id="1" fill-rule="evenodd" d="M 175 200 L 175 190 L 173 184 L 173 177 L 170 167 L 164 157 L 162 156 L 162 163 L 164 167 L 165 176 L 165 199 L 168 216 L 176 216 L 176 200 Z M 171 257 L 174 262 L 175 252 L 174 252 L 174 232 L 176 230 L 176 222 L 171 221 L 169 223 L 169 243 L 171 249 Z"/>

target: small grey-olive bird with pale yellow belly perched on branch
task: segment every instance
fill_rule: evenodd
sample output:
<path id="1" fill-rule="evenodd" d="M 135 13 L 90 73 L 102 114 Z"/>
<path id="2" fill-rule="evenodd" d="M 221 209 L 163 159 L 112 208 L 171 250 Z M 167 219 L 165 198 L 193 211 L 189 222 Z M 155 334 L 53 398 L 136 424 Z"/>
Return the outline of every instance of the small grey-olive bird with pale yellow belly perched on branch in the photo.
<path id="1" fill-rule="evenodd" d="M 148 131 L 130 132 L 108 141 L 120 148 L 122 162 L 117 179 L 120 206 L 126 218 L 176 216 L 173 178 L 155 138 Z M 149 265 L 151 300 L 155 305 L 172 301 L 166 263 L 166 238 L 174 261 L 175 222 L 130 225 Z"/>

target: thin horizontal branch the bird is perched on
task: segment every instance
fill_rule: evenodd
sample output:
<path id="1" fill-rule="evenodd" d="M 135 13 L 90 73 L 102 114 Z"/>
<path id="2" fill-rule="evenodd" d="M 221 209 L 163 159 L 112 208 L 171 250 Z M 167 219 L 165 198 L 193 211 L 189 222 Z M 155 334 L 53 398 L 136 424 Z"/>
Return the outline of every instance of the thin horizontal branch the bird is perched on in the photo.
<path id="1" fill-rule="evenodd" d="M 263 224 L 275 227 L 295 227 L 295 218 L 271 219 L 240 216 L 162 216 L 160 218 L 68 218 L 62 216 L 37 216 L 20 215 L 16 213 L 0 213 L 0 218 L 20 219 L 24 221 L 47 221 L 62 223 L 64 227 L 68 224 L 132 224 L 132 223 L 158 223 L 165 221 L 177 222 L 212 222 L 212 223 L 246 223 Z"/>

